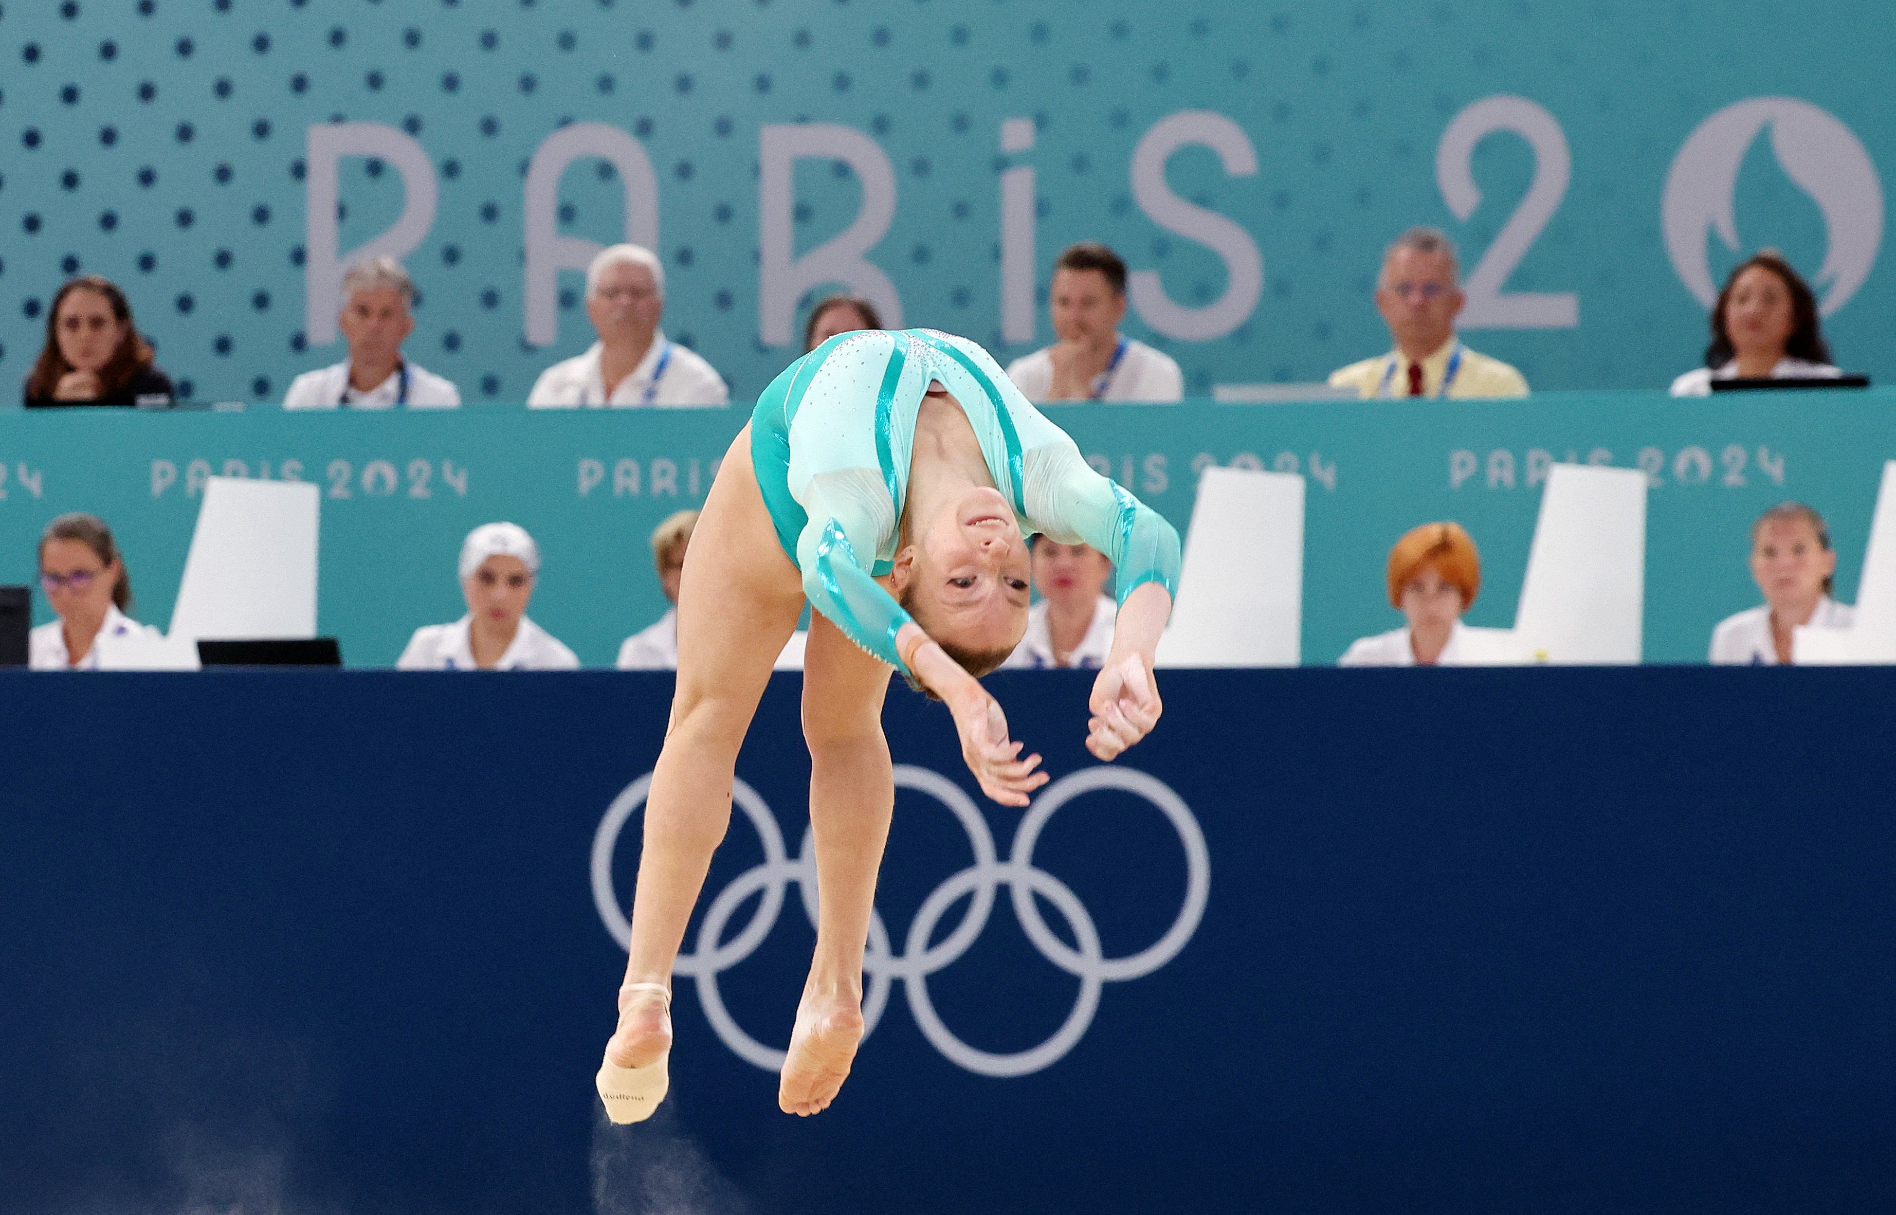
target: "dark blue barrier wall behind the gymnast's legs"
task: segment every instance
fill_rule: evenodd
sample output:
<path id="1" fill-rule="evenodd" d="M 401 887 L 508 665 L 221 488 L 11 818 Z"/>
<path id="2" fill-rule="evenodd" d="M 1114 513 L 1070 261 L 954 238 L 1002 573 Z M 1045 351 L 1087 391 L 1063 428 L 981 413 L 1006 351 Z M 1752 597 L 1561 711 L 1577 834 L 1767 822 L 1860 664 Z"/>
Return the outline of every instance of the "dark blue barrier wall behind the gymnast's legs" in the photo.
<path id="1" fill-rule="evenodd" d="M 1085 679 L 995 688 L 1056 777 L 1100 771 Z M 1085 792 L 1033 840 L 1043 944 L 1007 897 L 969 940 L 967 904 L 937 908 L 957 942 L 925 967 L 940 1027 L 1007 1054 L 1081 1020 L 1064 1052 L 969 1071 L 904 980 L 840 1101 L 794 1120 L 681 978 L 669 1109 L 618 1132 L 592 1071 L 624 955 L 590 868 L 667 690 L 0 677 L 0 1207 L 1896 1204 L 1883 671 L 1168 675 L 1160 730 L 1111 768 L 1157 802 Z M 774 682 L 738 766 L 791 855 L 796 692 Z M 971 785 L 939 705 L 895 690 L 887 728 L 937 773 L 916 785 L 950 787 L 897 802 L 878 910 L 912 959 L 975 855 L 950 813 Z M 1198 921 L 1166 794 L 1206 845 Z M 1026 819 L 976 817 L 1005 859 Z M 766 859 L 749 823 L 713 906 Z M 620 898 L 633 840 L 607 849 Z M 1105 974 L 1062 906 L 1107 967 L 1185 933 Z M 766 923 L 702 969 L 781 1046 L 811 944 L 798 891 Z"/>

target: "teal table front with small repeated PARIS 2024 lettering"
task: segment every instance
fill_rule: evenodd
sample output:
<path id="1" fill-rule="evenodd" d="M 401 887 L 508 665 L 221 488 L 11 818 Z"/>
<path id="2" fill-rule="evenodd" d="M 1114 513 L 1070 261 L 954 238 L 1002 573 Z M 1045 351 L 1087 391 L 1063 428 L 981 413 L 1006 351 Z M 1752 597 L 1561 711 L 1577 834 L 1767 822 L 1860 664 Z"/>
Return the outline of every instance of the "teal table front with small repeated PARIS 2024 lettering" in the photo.
<path id="1" fill-rule="evenodd" d="M 1469 624 L 1513 624 L 1540 485 L 1555 461 L 1646 468 L 1648 662 L 1703 662 L 1712 626 L 1758 603 L 1746 533 L 1801 499 L 1832 523 L 1852 599 L 1896 390 L 1672 400 L 1549 392 L 1509 402 L 1064 406 L 1081 451 L 1183 529 L 1206 464 L 1308 478 L 1303 660 L 1331 663 L 1399 624 L 1384 561 L 1416 523 L 1458 519 L 1485 559 Z M 322 487 L 319 624 L 351 665 L 389 665 L 465 610 L 461 536 L 512 519 L 546 569 L 533 618 L 590 665 L 664 610 L 645 538 L 703 502 L 747 409 L 127 415 L 0 411 L 0 582 L 27 584 L 55 514 L 118 531 L 140 618 L 167 624 L 209 476 Z M 46 620 L 44 605 L 38 607 Z"/>

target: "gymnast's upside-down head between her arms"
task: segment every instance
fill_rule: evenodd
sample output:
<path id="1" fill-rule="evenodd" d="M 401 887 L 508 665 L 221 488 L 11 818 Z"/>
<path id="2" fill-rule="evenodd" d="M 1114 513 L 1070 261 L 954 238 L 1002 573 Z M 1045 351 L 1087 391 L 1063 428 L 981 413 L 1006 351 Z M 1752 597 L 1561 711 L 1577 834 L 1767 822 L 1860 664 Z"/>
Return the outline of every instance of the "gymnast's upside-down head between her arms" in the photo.
<path id="1" fill-rule="evenodd" d="M 975 485 L 908 531 L 891 571 L 897 599 L 969 671 L 992 671 L 1028 631 L 1033 563 L 1012 508 Z"/>

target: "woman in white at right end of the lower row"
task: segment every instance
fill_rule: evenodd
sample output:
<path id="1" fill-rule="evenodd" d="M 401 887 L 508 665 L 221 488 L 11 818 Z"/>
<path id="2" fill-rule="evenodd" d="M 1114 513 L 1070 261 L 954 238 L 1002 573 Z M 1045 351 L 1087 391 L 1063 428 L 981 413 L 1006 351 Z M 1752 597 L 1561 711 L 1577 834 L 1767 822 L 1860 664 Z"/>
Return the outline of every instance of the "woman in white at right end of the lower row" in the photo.
<path id="1" fill-rule="evenodd" d="M 1792 629 L 1799 624 L 1850 627 L 1854 612 L 1830 597 L 1835 572 L 1837 553 L 1824 516 L 1803 502 L 1767 510 L 1752 523 L 1752 578 L 1765 603 L 1712 629 L 1710 660 L 1775 667 L 1792 662 Z"/>

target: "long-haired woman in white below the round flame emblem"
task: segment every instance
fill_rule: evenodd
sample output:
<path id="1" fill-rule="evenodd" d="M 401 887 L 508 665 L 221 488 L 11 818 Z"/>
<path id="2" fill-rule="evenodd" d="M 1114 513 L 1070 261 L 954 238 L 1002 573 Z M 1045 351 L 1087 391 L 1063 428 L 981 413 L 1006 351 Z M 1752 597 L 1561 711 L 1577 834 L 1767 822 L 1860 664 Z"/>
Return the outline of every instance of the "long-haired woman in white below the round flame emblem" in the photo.
<path id="1" fill-rule="evenodd" d="M 1714 379 L 1835 379 L 1816 296 L 1767 248 L 1725 279 L 1712 307 L 1705 366 L 1672 381 L 1672 396 L 1710 396 Z"/>

